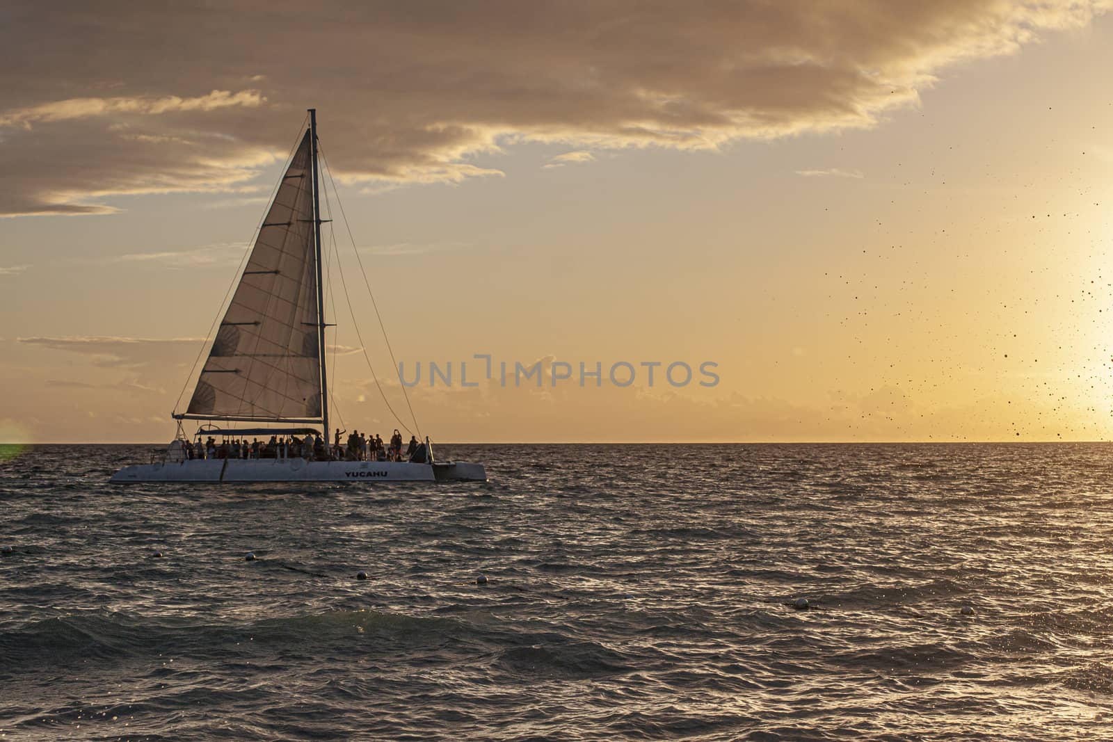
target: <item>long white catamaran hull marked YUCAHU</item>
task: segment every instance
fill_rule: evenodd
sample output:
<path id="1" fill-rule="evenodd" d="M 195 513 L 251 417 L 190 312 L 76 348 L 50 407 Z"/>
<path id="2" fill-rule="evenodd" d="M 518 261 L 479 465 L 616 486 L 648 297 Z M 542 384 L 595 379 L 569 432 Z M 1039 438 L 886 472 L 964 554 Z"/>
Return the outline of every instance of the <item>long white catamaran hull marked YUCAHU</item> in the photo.
<path id="1" fill-rule="evenodd" d="M 306 462 L 301 458 L 193 459 L 127 466 L 114 484 L 140 482 L 485 482 L 482 464 L 408 462 Z"/>

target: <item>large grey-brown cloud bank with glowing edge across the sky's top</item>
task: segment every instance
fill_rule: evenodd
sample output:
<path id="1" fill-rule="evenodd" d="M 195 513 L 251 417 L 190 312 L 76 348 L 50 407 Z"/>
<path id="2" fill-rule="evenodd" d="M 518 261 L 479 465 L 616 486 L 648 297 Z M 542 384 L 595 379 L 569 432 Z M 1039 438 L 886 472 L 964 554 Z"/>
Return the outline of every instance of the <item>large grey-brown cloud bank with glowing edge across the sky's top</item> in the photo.
<path id="1" fill-rule="evenodd" d="M 10 69 L 36 65 L 6 81 L 0 214 L 110 214 L 128 194 L 242 188 L 288 151 L 307 106 L 337 177 L 370 188 L 499 175 L 483 158 L 523 141 L 713 150 L 869 128 L 918 106 L 948 66 L 1106 9 L 420 0 L 260 13 L 249 0 L 11 0 L 0 55 Z"/>

